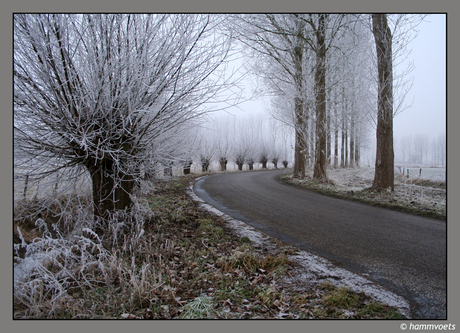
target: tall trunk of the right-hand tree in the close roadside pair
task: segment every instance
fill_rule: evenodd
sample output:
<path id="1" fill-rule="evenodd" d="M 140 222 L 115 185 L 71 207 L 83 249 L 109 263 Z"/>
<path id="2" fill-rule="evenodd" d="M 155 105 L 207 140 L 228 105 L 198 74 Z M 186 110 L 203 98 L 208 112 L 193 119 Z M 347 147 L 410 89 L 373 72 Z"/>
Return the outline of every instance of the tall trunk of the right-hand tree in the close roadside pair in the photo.
<path id="1" fill-rule="evenodd" d="M 326 175 L 326 27 L 325 14 L 319 14 L 316 30 L 316 149 L 313 178 L 327 181 Z"/>

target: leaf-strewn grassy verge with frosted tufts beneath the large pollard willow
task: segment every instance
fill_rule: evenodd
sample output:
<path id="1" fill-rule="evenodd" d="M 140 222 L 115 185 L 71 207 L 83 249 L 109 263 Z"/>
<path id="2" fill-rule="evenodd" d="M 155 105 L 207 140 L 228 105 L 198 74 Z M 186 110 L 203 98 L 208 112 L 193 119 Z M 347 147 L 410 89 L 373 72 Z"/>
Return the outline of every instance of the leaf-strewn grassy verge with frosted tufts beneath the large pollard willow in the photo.
<path id="1" fill-rule="evenodd" d="M 395 308 L 359 296 L 335 310 L 316 282 L 301 290 L 292 249 L 254 243 L 187 194 L 194 177 L 145 183 L 131 212 L 103 235 L 89 198 L 17 201 L 14 318 L 393 318 Z M 50 204 L 52 203 L 52 204 Z M 341 291 L 355 299 L 351 289 Z M 380 304 L 370 313 L 370 304 Z M 361 315 L 361 313 L 366 313 Z"/>

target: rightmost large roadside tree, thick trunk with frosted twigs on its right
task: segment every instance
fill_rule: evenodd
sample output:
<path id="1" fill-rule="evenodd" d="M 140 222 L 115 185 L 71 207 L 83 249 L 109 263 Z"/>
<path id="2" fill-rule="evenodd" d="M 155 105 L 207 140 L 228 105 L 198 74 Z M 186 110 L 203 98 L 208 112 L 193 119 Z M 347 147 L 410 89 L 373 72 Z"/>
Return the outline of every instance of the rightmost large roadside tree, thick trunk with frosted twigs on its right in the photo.
<path id="1" fill-rule="evenodd" d="M 413 65 L 409 64 L 396 76 L 394 68 L 398 65 L 396 61 L 402 62 L 410 53 L 407 44 L 417 36 L 415 28 L 423 19 L 424 15 L 372 14 L 378 73 L 377 149 L 372 190 L 394 191 L 393 117 L 407 108 L 405 97 L 411 85 L 406 76 Z"/>

